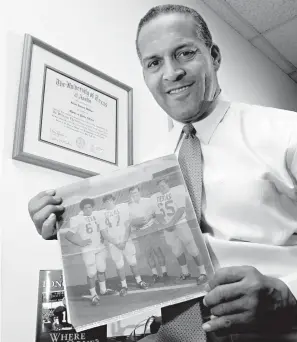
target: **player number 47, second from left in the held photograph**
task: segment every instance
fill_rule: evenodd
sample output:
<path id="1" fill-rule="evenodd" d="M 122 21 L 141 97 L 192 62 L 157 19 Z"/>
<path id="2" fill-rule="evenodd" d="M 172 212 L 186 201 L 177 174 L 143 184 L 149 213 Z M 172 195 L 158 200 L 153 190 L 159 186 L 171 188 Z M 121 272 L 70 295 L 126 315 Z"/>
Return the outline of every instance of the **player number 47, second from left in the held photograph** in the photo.
<path id="1" fill-rule="evenodd" d="M 137 286 L 143 290 L 147 290 L 148 285 L 141 279 L 137 267 L 135 246 L 130 238 L 131 226 L 128 205 L 125 203 L 116 205 L 113 195 L 105 195 L 103 197 L 103 203 L 105 205 L 105 211 L 101 234 L 105 241 L 109 243 L 110 254 L 121 279 L 122 288 L 120 295 L 126 296 L 128 292 L 124 257 L 135 277 Z"/>

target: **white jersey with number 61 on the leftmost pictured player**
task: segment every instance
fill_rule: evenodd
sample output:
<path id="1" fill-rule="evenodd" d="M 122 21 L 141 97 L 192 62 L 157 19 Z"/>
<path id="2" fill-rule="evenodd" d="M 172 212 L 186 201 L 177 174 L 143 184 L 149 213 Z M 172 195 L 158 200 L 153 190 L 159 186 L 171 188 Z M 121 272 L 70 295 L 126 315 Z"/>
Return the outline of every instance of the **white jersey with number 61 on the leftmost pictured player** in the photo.
<path id="1" fill-rule="evenodd" d="M 104 248 L 100 233 L 101 215 L 99 211 L 93 211 L 90 216 L 80 214 L 70 219 L 70 231 L 79 234 L 82 240 L 92 241 L 90 245 L 82 247 L 83 251 Z"/>

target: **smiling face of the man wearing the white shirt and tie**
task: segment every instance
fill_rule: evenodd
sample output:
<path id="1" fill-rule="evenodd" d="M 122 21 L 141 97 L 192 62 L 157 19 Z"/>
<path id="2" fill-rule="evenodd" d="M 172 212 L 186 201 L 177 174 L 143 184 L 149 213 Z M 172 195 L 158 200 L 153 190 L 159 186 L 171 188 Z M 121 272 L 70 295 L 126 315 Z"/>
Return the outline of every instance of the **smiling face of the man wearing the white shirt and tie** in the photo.
<path id="1" fill-rule="evenodd" d="M 218 84 L 210 49 L 197 37 L 193 18 L 160 15 L 142 27 L 138 45 L 144 80 L 157 103 L 177 121 L 197 121 Z"/>

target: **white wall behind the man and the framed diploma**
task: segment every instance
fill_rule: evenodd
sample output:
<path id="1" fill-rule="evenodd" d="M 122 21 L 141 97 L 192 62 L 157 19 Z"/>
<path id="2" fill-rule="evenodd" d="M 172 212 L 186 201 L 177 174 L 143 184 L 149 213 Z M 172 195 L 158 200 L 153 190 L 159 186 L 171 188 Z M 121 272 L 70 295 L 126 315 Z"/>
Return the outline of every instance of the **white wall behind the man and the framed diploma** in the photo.
<path id="1" fill-rule="evenodd" d="M 27 202 L 41 190 L 76 180 L 69 175 L 11 160 L 23 34 L 32 34 L 133 87 L 134 157 L 139 162 L 157 146 L 167 127 L 165 115 L 143 83 L 134 48 L 138 20 L 151 6 L 161 3 L 168 1 L 5 2 L 0 20 L 3 26 L 0 36 L 0 139 L 4 148 L 0 153 L 4 342 L 34 340 L 38 270 L 61 267 L 57 243 L 42 241 L 36 234 L 27 213 Z M 185 4 L 196 7 L 205 15 L 221 46 L 221 85 L 230 99 L 297 110 L 297 85 L 292 80 L 202 2 L 190 0 Z M 148 135 L 148 128 L 154 131 L 153 140 Z"/>

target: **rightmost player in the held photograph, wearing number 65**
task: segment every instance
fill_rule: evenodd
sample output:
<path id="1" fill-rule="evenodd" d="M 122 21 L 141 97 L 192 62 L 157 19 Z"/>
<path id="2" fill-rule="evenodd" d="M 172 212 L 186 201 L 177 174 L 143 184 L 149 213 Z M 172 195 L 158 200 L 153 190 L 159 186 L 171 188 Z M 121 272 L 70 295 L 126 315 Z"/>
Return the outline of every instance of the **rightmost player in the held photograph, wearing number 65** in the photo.
<path id="1" fill-rule="evenodd" d="M 207 280 L 207 277 L 191 228 L 186 220 L 185 188 L 183 185 L 179 185 L 170 189 L 165 178 L 160 178 L 157 181 L 157 186 L 159 193 L 153 196 L 155 213 L 161 214 L 160 223 L 164 229 L 165 240 L 171 247 L 172 253 L 177 258 L 182 270 L 180 279 L 186 280 L 191 277 L 185 255 L 185 250 L 187 250 L 197 265 L 197 283 L 202 284 Z"/>

